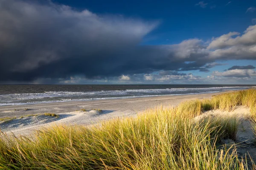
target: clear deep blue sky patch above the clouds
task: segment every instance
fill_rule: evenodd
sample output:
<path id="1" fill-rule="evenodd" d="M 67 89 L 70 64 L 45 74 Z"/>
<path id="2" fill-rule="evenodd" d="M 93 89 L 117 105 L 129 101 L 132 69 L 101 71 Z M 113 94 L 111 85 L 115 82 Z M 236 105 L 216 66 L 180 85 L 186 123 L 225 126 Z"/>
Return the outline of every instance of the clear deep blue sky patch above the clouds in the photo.
<path id="1" fill-rule="evenodd" d="M 230 31 L 243 32 L 252 25 L 256 13 L 246 12 L 255 0 L 54 0 L 78 10 L 88 9 L 96 14 L 123 15 L 146 21 L 159 21 L 143 44 L 175 44 L 185 39 L 208 40 Z M 230 2 L 230 3 L 229 3 Z M 255 23 L 254 23 L 255 24 Z"/>

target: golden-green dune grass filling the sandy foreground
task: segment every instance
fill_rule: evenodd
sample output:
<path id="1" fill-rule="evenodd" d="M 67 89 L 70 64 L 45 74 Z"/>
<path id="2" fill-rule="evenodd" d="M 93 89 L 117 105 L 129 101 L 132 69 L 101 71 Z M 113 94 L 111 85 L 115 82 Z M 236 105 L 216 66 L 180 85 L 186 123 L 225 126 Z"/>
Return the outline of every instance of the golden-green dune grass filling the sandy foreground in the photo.
<path id="1" fill-rule="evenodd" d="M 136 118 L 114 119 L 91 128 L 54 126 L 35 138 L 0 138 L 0 169 L 124 169 L 124 170 L 244 170 L 234 147 L 219 147 L 236 139 L 235 117 L 193 117 L 211 109 L 255 110 L 256 90 L 221 94 L 184 102 L 175 108 L 154 108 Z"/>

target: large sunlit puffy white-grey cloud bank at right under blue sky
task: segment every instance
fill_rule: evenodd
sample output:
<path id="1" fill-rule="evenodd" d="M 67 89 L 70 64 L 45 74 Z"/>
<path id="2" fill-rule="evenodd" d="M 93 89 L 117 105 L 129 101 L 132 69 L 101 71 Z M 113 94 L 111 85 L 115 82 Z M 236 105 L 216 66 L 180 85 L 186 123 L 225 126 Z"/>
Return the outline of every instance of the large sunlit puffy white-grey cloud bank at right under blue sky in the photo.
<path id="1" fill-rule="evenodd" d="M 184 67 L 198 68 L 193 70 L 200 70 L 207 63 L 219 60 L 256 59 L 256 25 L 249 26 L 243 34 L 230 32 L 207 42 L 199 39 L 184 40 L 166 48 L 169 48 L 173 60 L 185 60 L 184 63 L 189 63 Z M 198 64 L 202 61 L 209 62 Z"/>

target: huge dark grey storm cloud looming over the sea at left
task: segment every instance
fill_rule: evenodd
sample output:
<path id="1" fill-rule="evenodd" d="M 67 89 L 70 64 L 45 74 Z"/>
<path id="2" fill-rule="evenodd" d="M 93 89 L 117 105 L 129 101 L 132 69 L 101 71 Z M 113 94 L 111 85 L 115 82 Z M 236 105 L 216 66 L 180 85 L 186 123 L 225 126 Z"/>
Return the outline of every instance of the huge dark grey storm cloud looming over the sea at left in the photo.
<path id="1" fill-rule="evenodd" d="M 187 57 L 207 55 L 199 40 L 139 45 L 157 22 L 98 16 L 51 2 L 1 0 L 0 16 L 0 81 L 174 71 L 187 67 Z M 192 51 L 179 51 L 183 48 Z"/>

